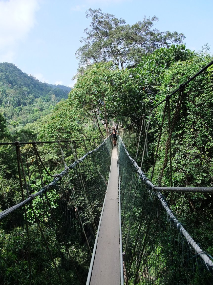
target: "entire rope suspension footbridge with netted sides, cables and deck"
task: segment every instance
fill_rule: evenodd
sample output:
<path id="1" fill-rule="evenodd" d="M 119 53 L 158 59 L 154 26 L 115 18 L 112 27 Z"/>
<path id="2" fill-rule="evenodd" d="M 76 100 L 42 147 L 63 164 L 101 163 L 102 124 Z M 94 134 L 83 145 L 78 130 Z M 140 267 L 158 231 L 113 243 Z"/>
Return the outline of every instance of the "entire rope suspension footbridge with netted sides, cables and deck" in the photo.
<path id="1" fill-rule="evenodd" d="M 202 194 L 207 202 L 212 200 L 213 187 L 173 187 L 171 152 L 172 136 L 181 121 L 178 118 L 186 101 L 184 87 L 212 64 L 213 61 L 155 105 L 148 112 L 147 121 L 147 114 L 144 114 L 129 127 L 119 128 L 119 183 L 114 176 L 117 175 L 116 171 L 112 170 L 112 167 L 116 168 L 116 148 L 112 147 L 111 137 L 0 143 L 1 147 L 15 146 L 20 182 L 20 193 L 9 192 L 8 196 L 7 189 L 1 198 L 0 284 L 80 285 L 101 282 L 101 285 L 106 284 L 106 278 L 108 284 L 113 282 L 113 285 L 116 282 L 126 285 L 213 284 L 213 258 L 208 254 L 212 248 L 213 221 L 205 217 L 208 226 L 199 228 L 195 241 L 190 233 L 196 233 L 201 212 L 193 212 L 193 219 L 182 217 L 181 223 L 178 220 L 181 209 L 176 214 L 171 210 L 172 195 L 178 193 L 180 196 L 176 195 L 176 201 L 189 193 L 195 198 Z M 177 98 L 172 97 L 176 93 Z M 151 118 L 154 109 L 164 103 L 162 123 L 157 130 L 154 146 L 152 173 L 148 179 L 142 168 L 146 159 L 149 159 Z M 161 139 L 164 126 L 168 130 L 166 143 Z M 162 163 L 159 166 L 162 143 L 165 144 L 164 160 L 160 160 Z M 46 147 L 49 144 L 51 151 L 55 151 L 53 154 L 61 159 L 63 170 L 60 174 L 53 175 L 47 168 L 44 158 L 46 153 L 49 154 L 50 148 Z M 74 162 L 68 165 L 70 159 Z M 137 164 L 139 160 L 141 167 Z M 158 167 L 155 169 L 157 161 Z M 109 173 L 113 174 L 110 180 Z M 158 186 L 151 182 L 156 173 Z M 166 175 L 170 177 L 170 187 L 162 186 Z M 36 181 L 32 177 L 36 177 Z M 112 187 L 115 190 L 113 196 L 111 181 L 117 184 L 115 188 Z M 170 195 L 169 201 L 166 200 L 167 195 Z M 14 201 L 17 201 L 15 205 Z M 107 214 L 111 202 L 116 207 Z M 117 214 L 113 211 L 117 211 Z M 110 226 L 109 220 L 106 226 L 102 224 L 106 220 L 105 214 Z M 104 237 L 109 241 L 112 236 L 106 236 L 109 234 L 107 228 L 114 224 L 112 220 L 115 219 L 117 245 L 111 261 L 115 259 L 110 266 L 117 274 L 114 276 L 116 281 L 109 281 L 105 272 L 96 271 L 97 266 L 102 271 L 109 264 L 107 254 L 101 257 L 106 240 L 101 245 L 97 239 Z M 188 219 L 190 223 L 185 229 L 183 223 Z M 108 274 L 113 277 L 112 271 Z M 96 276 L 98 281 L 93 279 Z"/>

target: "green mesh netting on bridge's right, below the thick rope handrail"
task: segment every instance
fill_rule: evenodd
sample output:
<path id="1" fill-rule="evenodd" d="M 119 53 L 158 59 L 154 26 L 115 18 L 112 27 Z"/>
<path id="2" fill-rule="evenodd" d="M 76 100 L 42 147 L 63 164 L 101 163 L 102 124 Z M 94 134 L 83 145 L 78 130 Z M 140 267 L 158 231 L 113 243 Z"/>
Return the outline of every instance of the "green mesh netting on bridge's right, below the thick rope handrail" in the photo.
<path id="1" fill-rule="evenodd" d="M 188 235 L 165 197 L 149 187 L 120 137 L 118 157 L 124 284 L 212 284 L 213 258 Z"/>

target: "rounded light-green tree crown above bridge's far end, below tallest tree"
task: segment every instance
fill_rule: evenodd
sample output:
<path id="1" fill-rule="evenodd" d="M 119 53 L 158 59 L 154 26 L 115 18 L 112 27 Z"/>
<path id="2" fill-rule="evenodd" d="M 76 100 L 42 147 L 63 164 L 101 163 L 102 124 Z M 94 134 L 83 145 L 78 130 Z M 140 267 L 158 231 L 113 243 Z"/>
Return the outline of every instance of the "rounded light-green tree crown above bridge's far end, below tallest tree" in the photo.
<path id="1" fill-rule="evenodd" d="M 70 92 L 68 102 L 76 110 L 87 113 L 100 125 L 114 118 L 134 116 L 138 104 L 132 106 L 136 97 L 136 83 L 129 70 L 113 68 L 113 63 L 97 63 L 77 76 L 77 83 Z"/>

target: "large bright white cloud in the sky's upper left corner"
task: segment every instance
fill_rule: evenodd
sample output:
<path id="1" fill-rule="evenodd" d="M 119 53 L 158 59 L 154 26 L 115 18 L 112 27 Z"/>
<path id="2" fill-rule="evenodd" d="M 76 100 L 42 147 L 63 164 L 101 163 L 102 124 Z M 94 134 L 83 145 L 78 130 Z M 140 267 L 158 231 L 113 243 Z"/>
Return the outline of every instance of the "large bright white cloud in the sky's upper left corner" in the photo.
<path id="1" fill-rule="evenodd" d="M 34 27 L 39 0 L 0 0 L 0 61 L 14 53 L 18 44 Z"/>

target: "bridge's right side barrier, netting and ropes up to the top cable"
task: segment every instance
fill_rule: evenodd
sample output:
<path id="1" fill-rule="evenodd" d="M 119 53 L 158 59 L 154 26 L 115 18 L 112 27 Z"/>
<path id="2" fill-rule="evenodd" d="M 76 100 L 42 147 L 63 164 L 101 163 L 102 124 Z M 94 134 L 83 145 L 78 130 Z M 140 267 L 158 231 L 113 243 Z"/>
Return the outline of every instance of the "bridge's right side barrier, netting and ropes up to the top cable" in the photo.
<path id="1" fill-rule="evenodd" d="M 125 284 L 213 284 L 213 258 L 205 252 L 212 255 L 213 157 L 212 148 L 205 147 L 212 143 L 208 131 L 212 117 L 206 119 L 206 110 L 213 111 L 206 99 L 212 93 L 199 91 L 204 84 L 199 75 L 212 64 L 170 95 L 165 91 L 165 99 L 119 130 Z M 204 74 L 212 78 L 211 70 Z M 192 89 L 197 90 L 196 98 Z M 196 105 L 196 100 L 202 104 Z M 202 133 L 201 147 L 196 125 L 195 131 L 190 130 L 192 113 L 195 123 L 202 121 L 207 130 Z"/>

